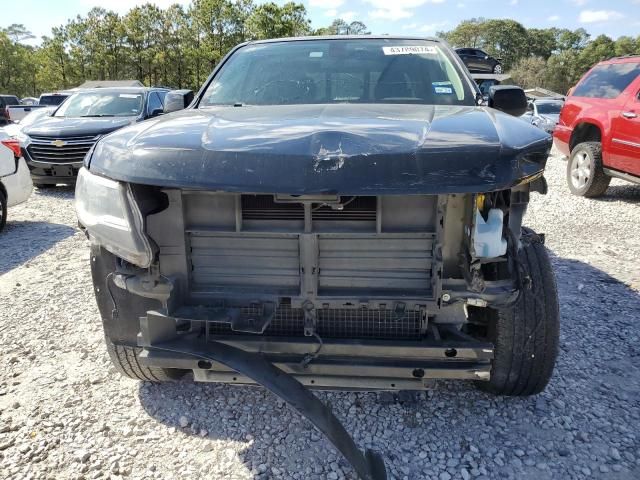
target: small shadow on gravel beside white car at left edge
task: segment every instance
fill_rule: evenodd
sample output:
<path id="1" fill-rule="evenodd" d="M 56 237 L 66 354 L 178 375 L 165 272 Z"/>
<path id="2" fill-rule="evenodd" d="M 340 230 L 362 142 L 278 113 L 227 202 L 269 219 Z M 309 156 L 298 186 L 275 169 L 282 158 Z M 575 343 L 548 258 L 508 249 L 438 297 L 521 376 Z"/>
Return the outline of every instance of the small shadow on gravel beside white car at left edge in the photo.
<path id="1" fill-rule="evenodd" d="M 70 237 L 76 230 L 68 225 L 7 219 L 0 233 L 0 275 L 22 265 Z"/>

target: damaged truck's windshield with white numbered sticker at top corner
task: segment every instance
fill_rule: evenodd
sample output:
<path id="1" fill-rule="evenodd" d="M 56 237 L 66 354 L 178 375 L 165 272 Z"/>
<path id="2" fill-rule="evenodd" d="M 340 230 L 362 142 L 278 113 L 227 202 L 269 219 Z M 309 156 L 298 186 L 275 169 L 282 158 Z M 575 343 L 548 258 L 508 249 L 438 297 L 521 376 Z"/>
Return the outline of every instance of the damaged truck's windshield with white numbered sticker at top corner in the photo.
<path id="1" fill-rule="evenodd" d="M 200 107 L 325 103 L 474 105 L 449 53 L 425 40 L 304 40 L 235 52 Z"/>

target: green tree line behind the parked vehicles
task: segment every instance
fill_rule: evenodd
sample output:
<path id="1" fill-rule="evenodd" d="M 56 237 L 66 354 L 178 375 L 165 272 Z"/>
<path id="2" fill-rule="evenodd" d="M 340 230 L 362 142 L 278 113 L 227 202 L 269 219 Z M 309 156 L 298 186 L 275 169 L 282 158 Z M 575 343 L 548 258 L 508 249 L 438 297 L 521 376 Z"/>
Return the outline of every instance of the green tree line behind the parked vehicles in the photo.
<path id="1" fill-rule="evenodd" d="M 37 46 L 24 43 L 32 38 L 28 27 L 0 29 L 0 93 L 37 96 L 85 80 L 120 79 L 197 90 L 226 52 L 246 40 L 368 33 L 364 23 L 340 19 L 314 30 L 295 2 L 192 0 L 166 9 L 145 4 L 123 15 L 94 8 L 53 27 Z M 598 61 L 640 54 L 640 36 L 591 39 L 584 29 L 527 29 L 514 20 L 471 19 L 437 35 L 502 58 L 525 88 L 563 93 Z"/>

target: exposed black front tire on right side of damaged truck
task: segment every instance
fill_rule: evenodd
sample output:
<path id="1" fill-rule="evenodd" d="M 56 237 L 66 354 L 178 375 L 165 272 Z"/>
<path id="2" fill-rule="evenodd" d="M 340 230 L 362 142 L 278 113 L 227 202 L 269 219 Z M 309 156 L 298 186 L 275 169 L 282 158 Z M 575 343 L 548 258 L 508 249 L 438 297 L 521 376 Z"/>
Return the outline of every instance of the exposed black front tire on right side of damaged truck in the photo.
<path id="1" fill-rule="evenodd" d="M 491 379 L 476 382 L 497 395 L 535 395 L 544 390 L 558 355 L 560 312 L 556 280 L 547 250 L 523 229 L 519 259 L 530 287 L 511 307 L 488 313 L 487 337 L 494 345 Z"/>

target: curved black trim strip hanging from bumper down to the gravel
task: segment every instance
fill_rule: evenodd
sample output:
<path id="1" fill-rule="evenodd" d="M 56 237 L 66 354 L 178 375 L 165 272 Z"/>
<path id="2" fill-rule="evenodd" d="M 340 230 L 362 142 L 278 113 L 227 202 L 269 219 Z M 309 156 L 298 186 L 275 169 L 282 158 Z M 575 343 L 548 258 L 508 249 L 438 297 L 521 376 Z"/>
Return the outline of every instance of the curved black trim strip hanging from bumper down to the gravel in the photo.
<path id="1" fill-rule="evenodd" d="M 184 343 L 179 341 L 156 344 L 147 348 L 220 362 L 246 375 L 283 399 L 313 423 L 344 455 L 361 479 L 387 480 L 382 456 L 373 450 L 361 452 L 331 409 L 294 377 L 277 368 L 263 355 L 220 342 L 208 342 L 206 349 L 203 350 L 187 349 Z"/>

